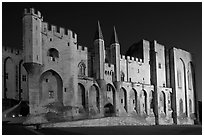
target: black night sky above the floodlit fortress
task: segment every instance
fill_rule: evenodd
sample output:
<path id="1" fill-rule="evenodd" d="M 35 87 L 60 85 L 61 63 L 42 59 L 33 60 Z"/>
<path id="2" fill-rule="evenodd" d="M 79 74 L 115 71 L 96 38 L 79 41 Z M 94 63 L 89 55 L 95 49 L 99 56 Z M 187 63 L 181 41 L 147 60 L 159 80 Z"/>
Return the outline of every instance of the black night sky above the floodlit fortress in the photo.
<path id="1" fill-rule="evenodd" d="M 97 20 L 106 46 L 115 25 L 121 52 L 141 39 L 157 40 L 166 47 L 191 52 L 196 70 L 199 100 L 202 91 L 202 3 L 3 3 L 3 45 L 22 47 L 24 8 L 41 11 L 44 21 L 69 28 L 78 34 L 78 43 L 93 46 Z"/>

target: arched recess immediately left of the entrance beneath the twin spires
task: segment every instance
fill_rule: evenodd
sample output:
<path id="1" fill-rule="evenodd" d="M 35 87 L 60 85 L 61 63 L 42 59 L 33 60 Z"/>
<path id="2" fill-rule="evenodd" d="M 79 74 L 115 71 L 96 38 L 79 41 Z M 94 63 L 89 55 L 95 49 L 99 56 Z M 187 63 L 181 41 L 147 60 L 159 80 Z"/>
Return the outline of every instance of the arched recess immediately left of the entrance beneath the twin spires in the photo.
<path id="1" fill-rule="evenodd" d="M 89 106 L 98 110 L 100 108 L 99 89 L 96 85 L 92 85 L 89 89 Z"/>

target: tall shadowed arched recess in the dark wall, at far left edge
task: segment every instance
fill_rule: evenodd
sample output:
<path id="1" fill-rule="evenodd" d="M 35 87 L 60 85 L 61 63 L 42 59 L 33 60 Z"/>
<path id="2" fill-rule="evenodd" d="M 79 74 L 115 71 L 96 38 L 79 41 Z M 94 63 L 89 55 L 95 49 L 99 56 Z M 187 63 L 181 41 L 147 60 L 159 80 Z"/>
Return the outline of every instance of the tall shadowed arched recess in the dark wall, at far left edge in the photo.
<path id="1" fill-rule="evenodd" d="M 3 98 L 17 99 L 16 96 L 16 66 L 8 57 L 4 60 L 4 93 Z"/>

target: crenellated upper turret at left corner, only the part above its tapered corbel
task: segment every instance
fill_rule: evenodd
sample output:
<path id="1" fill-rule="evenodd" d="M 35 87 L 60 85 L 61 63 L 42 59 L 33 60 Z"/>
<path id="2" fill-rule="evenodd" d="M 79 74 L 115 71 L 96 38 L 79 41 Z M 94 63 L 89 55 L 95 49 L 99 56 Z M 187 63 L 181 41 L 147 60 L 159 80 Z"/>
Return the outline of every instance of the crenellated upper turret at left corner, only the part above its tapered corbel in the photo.
<path id="1" fill-rule="evenodd" d="M 25 9 L 23 16 L 24 62 L 42 65 L 42 27 L 43 18 L 33 8 Z"/>

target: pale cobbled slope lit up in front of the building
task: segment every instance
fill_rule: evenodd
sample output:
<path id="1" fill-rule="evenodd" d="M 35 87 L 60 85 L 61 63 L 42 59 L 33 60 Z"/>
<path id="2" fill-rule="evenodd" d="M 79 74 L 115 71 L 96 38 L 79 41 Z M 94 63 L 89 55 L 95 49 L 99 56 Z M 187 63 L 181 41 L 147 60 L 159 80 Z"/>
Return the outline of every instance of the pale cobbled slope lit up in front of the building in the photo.
<path id="1" fill-rule="evenodd" d="M 95 127 L 95 126 L 118 126 L 118 125 L 148 125 L 144 121 L 133 117 L 106 117 L 100 119 L 88 119 L 60 123 L 43 124 L 42 127 Z"/>

